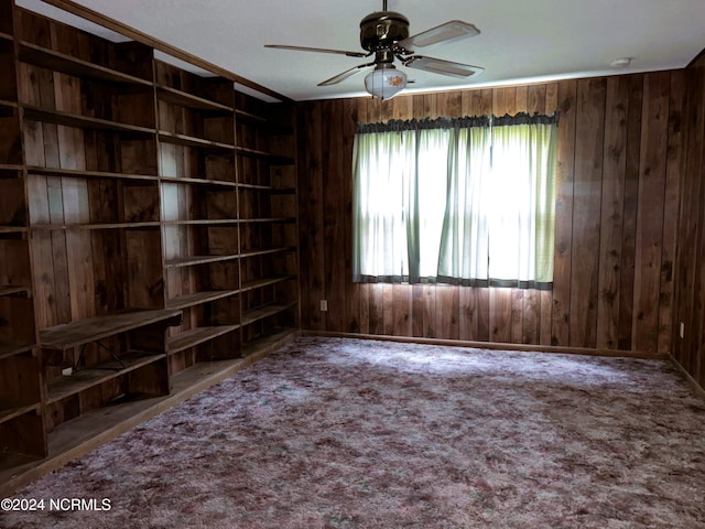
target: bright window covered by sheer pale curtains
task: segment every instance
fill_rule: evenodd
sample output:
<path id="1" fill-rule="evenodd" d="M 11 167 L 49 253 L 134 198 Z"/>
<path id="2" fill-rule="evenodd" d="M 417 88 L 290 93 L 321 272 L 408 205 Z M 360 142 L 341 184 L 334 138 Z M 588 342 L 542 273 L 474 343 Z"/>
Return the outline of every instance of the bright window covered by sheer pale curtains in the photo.
<path id="1" fill-rule="evenodd" d="M 556 121 L 359 125 L 354 280 L 550 288 Z"/>

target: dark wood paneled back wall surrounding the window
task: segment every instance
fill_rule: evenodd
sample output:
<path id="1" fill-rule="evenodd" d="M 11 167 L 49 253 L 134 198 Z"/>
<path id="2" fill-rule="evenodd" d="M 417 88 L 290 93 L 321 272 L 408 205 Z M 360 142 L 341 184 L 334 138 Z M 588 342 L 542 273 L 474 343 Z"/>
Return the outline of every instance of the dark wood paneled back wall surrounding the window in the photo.
<path id="1" fill-rule="evenodd" d="M 386 102 L 301 104 L 302 328 L 668 353 L 685 80 L 685 72 L 676 71 L 409 95 Z M 351 282 L 356 122 L 556 109 L 552 291 Z M 328 301 L 327 312 L 319 310 L 321 300 Z"/>

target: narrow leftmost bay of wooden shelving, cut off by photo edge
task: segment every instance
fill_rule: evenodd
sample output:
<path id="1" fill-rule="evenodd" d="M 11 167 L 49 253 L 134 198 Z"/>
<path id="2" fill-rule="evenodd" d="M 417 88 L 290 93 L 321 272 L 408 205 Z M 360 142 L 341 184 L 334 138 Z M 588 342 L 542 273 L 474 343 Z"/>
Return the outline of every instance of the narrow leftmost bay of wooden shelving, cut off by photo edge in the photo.
<path id="1" fill-rule="evenodd" d="M 46 455 L 14 12 L 0 6 L 0 468 Z M 0 478 L 1 482 L 1 478 Z"/>

